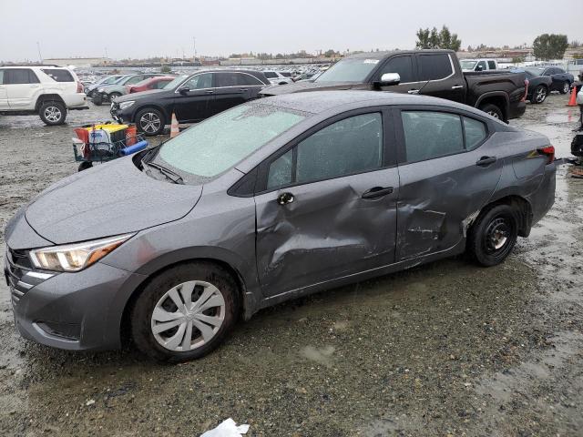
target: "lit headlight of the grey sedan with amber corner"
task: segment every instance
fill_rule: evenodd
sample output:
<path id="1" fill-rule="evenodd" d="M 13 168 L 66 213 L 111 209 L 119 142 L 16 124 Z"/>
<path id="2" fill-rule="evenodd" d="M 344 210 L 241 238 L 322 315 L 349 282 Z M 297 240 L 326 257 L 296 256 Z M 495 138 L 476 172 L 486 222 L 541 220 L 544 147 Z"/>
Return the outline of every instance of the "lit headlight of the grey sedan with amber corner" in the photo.
<path id="1" fill-rule="evenodd" d="M 126 234 L 84 243 L 34 249 L 29 255 L 37 269 L 79 271 L 102 259 L 134 235 Z"/>

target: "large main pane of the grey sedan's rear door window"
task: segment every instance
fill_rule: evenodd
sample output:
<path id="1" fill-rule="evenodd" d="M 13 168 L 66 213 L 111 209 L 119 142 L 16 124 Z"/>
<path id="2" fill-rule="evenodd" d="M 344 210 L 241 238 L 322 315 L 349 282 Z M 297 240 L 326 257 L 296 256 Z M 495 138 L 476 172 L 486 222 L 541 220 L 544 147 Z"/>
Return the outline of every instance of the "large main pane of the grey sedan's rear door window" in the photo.
<path id="1" fill-rule="evenodd" d="M 402 111 L 401 118 L 408 162 L 464 151 L 464 132 L 458 115 L 432 111 Z"/>

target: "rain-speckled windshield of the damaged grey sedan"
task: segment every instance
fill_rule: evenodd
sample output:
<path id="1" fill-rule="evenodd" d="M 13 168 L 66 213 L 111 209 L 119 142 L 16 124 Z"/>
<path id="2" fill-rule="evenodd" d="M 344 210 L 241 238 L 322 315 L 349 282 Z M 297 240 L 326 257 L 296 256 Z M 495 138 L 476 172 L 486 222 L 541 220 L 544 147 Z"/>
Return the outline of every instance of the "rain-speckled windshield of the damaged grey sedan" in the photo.
<path id="1" fill-rule="evenodd" d="M 186 178 L 212 178 L 305 117 L 300 111 L 258 103 L 233 107 L 170 139 L 154 161 L 186 173 Z"/>

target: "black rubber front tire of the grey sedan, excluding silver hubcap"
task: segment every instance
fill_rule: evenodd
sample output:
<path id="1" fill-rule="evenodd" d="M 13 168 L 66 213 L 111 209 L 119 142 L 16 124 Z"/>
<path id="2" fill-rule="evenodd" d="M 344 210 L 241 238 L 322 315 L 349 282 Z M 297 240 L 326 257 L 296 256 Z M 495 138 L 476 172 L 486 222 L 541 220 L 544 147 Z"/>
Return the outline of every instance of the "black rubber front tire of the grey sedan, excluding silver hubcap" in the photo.
<path id="1" fill-rule="evenodd" d="M 208 282 L 220 291 L 225 304 L 224 319 L 219 330 L 201 346 L 190 351 L 170 351 L 156 340 L 152 331 L 152 315 L 167 291 L 191 280 Z M 164 270 L 149 280 L 129 313 L 132 340 L 139 351 L 156 361 L 181 362 L 199 359 L 216 349 L 235 325 L 240 306 L 238 290 L 237 282 L 230 272 L 214 263 L 189 262 Z M 193 335 L 199 334 L 201 335 L 201 331 L 193 328 L 190 340 Z"/>

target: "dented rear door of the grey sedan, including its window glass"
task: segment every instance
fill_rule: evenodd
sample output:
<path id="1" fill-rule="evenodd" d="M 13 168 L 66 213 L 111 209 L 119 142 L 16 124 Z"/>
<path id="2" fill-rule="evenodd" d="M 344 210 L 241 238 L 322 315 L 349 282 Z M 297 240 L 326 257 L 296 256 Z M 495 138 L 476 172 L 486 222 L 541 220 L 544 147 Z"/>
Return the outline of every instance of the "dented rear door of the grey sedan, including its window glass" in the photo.
<path id="1" fill-rule="evenodd" d="M 402 261 L 451 249 L 465 237 L 467 226 L 496 190 L 504 157 L 490 144 L 484 120 L 471 118 L 464 128 L 467 117 L 453 111 L 420 107 L 396 112 L 401 112 L 402 121 L 396 124 L 401 127 L 396 130 L 402 161 L 396 260 Z M 480 123 L 486 131 L 476 142 L 472 129 Z M 464 132 L 467 141 L 456 138 Z M 474 134 L 479 137 L 479 132 Z M 440 147 L 441 155 L 447 155 L 433 158 L 440 155 Z"/>

